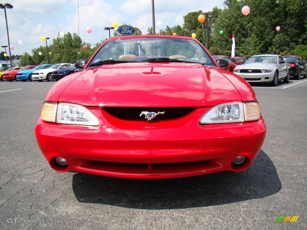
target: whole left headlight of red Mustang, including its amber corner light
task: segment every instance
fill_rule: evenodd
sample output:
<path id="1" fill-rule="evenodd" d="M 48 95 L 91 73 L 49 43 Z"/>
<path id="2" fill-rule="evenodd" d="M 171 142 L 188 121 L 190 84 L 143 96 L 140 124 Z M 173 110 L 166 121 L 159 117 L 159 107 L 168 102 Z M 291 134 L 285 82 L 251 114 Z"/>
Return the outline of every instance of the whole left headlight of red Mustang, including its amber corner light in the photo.
<path id="1" fill-rule="evenodd" d="M 99 125 L 99 120 L 82 105 L 45 102 L 41 112 L 42 120 L 71 125 Z"/>

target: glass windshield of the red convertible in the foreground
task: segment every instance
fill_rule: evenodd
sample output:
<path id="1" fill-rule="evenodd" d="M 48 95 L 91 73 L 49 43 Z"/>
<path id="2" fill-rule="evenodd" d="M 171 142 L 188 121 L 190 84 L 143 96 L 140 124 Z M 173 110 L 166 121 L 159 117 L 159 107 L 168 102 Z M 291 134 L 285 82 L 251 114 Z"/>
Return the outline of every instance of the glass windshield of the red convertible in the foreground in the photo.
<path id="1" fill-rule="evenodd" d="M 119 56 L 124 54 L 135 55 L 134 61 L 181 56 L 180 58 L 187 62 L 216 66 L 208 53 L 196 41 L 168 37 L 111 40 L 103 45 L 89 65 L 100 61 L 119 60 Z"/>

